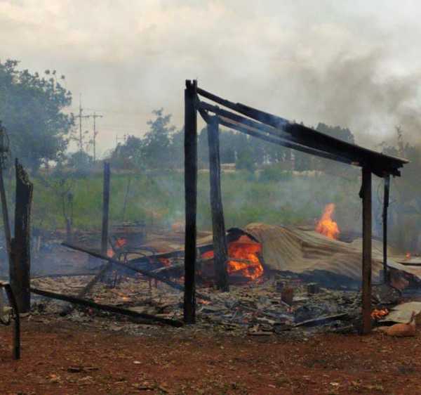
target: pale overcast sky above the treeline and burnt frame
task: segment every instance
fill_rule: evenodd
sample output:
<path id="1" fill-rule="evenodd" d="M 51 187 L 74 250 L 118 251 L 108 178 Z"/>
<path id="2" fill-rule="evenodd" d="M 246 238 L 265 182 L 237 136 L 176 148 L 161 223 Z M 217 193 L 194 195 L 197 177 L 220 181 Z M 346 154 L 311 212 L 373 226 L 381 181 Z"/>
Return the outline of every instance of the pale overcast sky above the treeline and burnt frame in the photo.
<path id="1" fill-rule="evenodd" d="M 420 136 L 419 1 L 0 0 L 0 60 L 66 76 L 100 152 L 156 108 L 182 127 L 185 79 L 359 143 Z M 86 122 L 84 129 L 91 129 Z"/>

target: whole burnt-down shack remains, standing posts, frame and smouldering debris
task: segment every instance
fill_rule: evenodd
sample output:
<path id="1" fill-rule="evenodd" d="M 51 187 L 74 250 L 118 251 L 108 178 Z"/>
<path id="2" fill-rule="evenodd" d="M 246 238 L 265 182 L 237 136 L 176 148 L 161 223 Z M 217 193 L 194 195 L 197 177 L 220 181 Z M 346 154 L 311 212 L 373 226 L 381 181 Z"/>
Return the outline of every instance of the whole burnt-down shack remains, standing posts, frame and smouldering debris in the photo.
<path id="1" fill-rule="evenodd" d="M 196 228 L 198 113 L 208 125 L 209 233 Z M 345 242 L 338 238 L 335 228 L 328 228 L 333 237 L 325 233 L 323 225 L 315 230 L 250 224 L 227 230 L 220 182 L 220 125 L 269 143 L 361 167 L 362 238 Z M 32 183 L 17 161 L 12 238 L 0 176 L 10 267 L 11 287 L 7 289 L 8 294 L 13 294 L 11 300 L 16 301 L 14 315 L 32 309 L 35 314 L 53 311 L 81 318 L 98 311 L 135 323 L 175 328 L 194 323 L 226 330 L 246 328 L 250 335 L 289 333 L 302 328 L 368 333 L 373 322 L 399 301 L 401 290 L 418 285 L 421 279 L 420 269 L 406 264 L 404 257 L 387 246 L 390 178 L 400 176 L 406 163 L 399 157 L 227 101 L 188 80 L 182 226 L 166 232 L 148 229 L 145 224 L 110 228 L 112 171 L 105 163 L 101 234 L 79 233 L 66 241 L 54 235 L 51 254 L 57 258 L 55 272 L 37 272 L 31 270 L 30 264 Z M 382 241 L 372 240 L 371 233 L 373 174 L 384 179 Z M 326 215 L 325 219 L 329 219 Z"/>

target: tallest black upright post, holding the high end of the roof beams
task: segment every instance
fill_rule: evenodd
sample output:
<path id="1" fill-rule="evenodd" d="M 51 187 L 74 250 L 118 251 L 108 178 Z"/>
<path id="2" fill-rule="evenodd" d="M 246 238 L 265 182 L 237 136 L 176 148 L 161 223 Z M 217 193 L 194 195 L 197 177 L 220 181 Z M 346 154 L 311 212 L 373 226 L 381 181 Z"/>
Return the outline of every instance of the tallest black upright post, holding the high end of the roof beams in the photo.
<path id="1" fill-rule="evenodd" d="M 185 89 L 185 295 L 184 320 L 196 320 L 197 112 L 196 80 Z"/>

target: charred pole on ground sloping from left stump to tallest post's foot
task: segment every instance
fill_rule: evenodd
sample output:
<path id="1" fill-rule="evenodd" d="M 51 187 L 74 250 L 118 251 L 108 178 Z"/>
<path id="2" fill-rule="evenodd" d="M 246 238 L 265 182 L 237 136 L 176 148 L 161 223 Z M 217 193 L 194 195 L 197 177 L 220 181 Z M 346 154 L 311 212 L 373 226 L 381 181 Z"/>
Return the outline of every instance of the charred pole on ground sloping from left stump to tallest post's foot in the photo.
<path id="1" fill-rule="evenodd" d="M 99 304 L 92 302 L 91 300 L 79 299 L 78 297 L 72 297 L 64 294 L 58 294 L 56 292 L 40 290 L 39 288 L 31 287 L 31 292 L 33 294 L 38 294 L 44 297 L 50 297 L 51 299 L 64 300 L 65 302 L 70 302 L 73 304 L 79 304 L 81 306 L 91 307 L 92 309 L 98 309 L 103 311 L 109 311 L 110 313 L 121 314 L 122 316 L 129 316 L 135 318 L 142 318 L 145 320 L 150 320 L 150 323 L 163 323 L 166 325 L 171 325 L 176 328 L 182 326 L 182 322 L 178 320 L 171 320 L 169 318 L 162 318 L 157 316 L 152 316 L 151 314 L 138 313 L 137 311 L 122 309 L 117 306 L 108 306 L 107 304 Z"/>

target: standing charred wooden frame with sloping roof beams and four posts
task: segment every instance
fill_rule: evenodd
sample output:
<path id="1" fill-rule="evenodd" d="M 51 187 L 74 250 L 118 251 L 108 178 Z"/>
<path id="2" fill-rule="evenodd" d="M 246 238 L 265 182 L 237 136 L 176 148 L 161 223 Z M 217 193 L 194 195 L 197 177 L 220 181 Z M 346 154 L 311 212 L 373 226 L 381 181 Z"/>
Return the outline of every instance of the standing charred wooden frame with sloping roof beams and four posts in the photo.
<path id="1" fill-rule="evenodd" d="M 201 100 L 206 98 L 208 103 Z M 217 105 L 215 105 L 215 103 Z M 223 108 L 219 107 L 222 106 Z M 196 80 L 185 88 L 185 323 L 195 322 L 196 209 L 197 209 L 197 112 L 208 124 L 210 204 L 213 223 L 215 273 L 220 290 L 228 290 L 227 242 L 220 190 L 219 125 L 260 138 L 269 143 L 361 167 L 360 197 L 363 203 L 362 332 L 371 330 L 371 175 L 385 180 L 383 205 L 383 265 L 387 280 L 387 207 L 390 176 L 400 176 L 407 160 L 377 153 L 359 145 L 328 136 L 302 124 L 269 114 L 241 103 L 233 103 L 200 89 Z"/>

